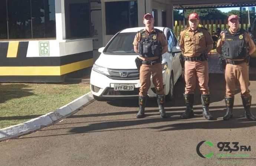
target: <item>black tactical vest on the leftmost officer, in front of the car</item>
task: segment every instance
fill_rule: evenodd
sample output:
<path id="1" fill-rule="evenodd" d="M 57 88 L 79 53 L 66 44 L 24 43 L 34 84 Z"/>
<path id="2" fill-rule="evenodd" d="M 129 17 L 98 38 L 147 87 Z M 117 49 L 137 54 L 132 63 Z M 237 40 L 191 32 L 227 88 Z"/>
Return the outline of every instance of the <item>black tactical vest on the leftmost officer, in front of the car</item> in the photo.
<path id="1" fill-rule="evenodd" d="M 155 32 L 151 32 L 149 35 L 143 30 L 140 31 L 141 38 L 138 43 L 138 51 L 142 57 L 154 57 L 162 55 L 162 46 L 157 42 L 157 34 L 163 33 L 162 31 L 155 29 Z"/>

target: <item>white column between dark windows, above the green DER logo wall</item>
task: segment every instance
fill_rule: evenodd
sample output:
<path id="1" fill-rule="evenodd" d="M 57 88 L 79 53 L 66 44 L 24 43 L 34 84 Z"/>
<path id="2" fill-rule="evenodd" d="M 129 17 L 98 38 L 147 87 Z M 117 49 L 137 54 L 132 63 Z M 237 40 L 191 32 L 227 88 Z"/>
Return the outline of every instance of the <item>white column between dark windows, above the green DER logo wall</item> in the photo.
<path id="1" fill-rule="evenodd" d="M 65 1 L 55 0 L 56 39 L 66 39 Z"/>

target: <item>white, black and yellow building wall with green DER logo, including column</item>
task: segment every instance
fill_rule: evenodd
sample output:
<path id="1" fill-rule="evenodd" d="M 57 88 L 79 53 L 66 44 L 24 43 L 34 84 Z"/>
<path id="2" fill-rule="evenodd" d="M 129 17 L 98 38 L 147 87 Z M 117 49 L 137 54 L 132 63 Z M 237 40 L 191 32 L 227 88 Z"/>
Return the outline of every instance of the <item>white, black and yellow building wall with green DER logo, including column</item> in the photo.
<path id="1" fill-rule="evenodd" d="M 0 82 L 64 82 L 89 75 L 93 38 L 66 40 L 64 0 L 55 0 L 56 39 L 0 42 Z"/>

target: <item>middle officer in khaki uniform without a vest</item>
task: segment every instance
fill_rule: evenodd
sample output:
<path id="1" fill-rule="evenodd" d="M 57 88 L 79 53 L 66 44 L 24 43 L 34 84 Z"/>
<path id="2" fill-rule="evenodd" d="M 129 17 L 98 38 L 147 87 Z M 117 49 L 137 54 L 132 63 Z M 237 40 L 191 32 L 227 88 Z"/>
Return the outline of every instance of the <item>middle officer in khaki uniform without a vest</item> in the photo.
<path id="1" fill-rule="evenodd" d="M 199 16 L 197 13 L 191 13 L 188 20 L 190 27 L 180 32 L 179 42 L 185 60 L 184 77 L 186 86 L 183 96 L 187 106 L 186 111 L 181 114 L 181 119 L 194 116 L 194 89 L 199 83 L 203 117 L 211 120 L 212 115 L 209 112 L 210 91 L 208 87 L 207 53 L 213 48 L 213 39 L 206 28 L 198 27 Z"/>

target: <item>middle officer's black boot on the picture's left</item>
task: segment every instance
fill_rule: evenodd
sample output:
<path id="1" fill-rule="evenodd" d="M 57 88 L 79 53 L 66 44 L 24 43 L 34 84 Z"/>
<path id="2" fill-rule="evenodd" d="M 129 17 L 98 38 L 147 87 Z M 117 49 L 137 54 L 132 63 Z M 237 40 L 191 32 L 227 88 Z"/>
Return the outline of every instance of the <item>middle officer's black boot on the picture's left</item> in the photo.
<path id="1" fill-rule="evenodd" d="M 194 94 L 183 94 L 184 100 L 186 103 L 186 111 L 180 115 L 181 119 L 188 119 L 194 116 L 193 103 L 194 103 Z"/>

